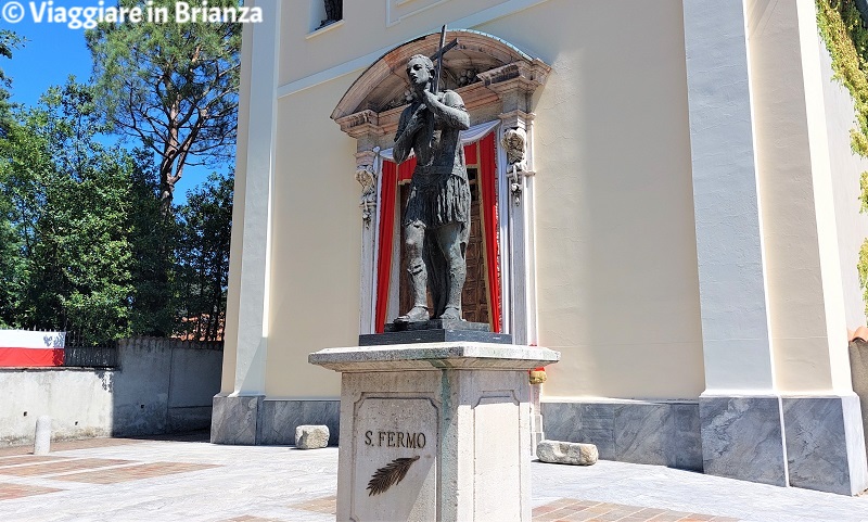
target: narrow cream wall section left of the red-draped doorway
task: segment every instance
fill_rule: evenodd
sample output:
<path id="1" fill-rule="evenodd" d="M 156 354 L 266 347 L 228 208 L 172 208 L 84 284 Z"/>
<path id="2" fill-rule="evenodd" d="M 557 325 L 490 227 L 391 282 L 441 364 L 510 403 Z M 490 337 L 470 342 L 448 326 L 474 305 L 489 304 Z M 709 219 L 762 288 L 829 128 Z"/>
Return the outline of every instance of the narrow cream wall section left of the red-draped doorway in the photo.
<path id="1" fill-rule="evenodd" d="M 266 393 L 340 395 L 337 373 L 307 355 L 358 344 L 360 186 L 355 140 L 329 114 L 349 78 L 285 97 L 278 105 Z"/>

